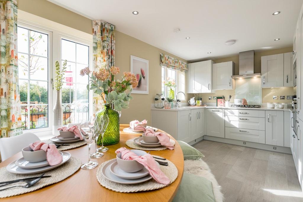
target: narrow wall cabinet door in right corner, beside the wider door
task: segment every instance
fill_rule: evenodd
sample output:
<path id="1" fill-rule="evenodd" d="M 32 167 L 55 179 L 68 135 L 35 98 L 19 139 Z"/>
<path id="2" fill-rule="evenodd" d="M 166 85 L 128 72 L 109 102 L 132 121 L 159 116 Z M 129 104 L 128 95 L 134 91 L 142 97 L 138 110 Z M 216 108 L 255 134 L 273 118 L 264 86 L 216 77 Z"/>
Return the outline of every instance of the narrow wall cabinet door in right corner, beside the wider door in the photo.
<path id="1" fill-rule="evenodd" d="M 294 86 L 294 68 L 292 52 L 284 53 L 284 87 Z"/>

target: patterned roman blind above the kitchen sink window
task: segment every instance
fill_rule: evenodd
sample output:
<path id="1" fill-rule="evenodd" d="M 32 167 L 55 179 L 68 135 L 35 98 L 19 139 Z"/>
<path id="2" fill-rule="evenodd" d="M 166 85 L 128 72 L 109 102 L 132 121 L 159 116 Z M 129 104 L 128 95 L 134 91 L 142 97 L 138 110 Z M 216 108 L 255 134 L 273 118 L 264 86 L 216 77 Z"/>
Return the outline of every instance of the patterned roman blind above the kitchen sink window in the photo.
<path id="1" fill-rule="evenodd" d="M 187 71 L 187 63 L 177 58 L 173 58 L 169 55 L 165 55 L 163 53 L 160 54 L 160 65 L 161 67 L 168 67 L 171 69 L 179 70 L 179 71 Z"/>

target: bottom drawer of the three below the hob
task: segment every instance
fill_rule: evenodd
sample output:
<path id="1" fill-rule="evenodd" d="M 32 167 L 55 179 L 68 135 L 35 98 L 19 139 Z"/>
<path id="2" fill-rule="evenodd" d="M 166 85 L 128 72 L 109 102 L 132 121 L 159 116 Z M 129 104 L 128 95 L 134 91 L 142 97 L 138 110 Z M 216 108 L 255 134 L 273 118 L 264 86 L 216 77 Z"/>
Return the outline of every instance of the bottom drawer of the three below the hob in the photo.
<path id="1" fill-rule="evenodd" d="M 265 131 L 225 127 L 225 138 L 265 144 Z"/>

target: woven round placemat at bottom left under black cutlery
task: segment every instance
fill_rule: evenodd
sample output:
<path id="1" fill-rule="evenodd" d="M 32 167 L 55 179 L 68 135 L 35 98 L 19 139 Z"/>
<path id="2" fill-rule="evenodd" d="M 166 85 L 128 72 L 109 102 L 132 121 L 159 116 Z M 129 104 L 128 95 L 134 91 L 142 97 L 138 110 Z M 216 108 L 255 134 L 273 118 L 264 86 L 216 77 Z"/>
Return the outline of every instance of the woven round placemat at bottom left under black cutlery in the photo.
<path id="1" fill-rule="evenodd" d="M 80 167 L 81 167 L 81 160 L 76 157 L 71 157 L 65 164 L 63 164 L 59 167 L 56 167 L 53 170 L 45 172 L 44 175 L 51 175 L 52 177 L 42 178 L 40 181 L 38 181 L 32 187 L 28 187 L 28 188 L 14 187 L 11 189 L 0 191 L 0 198 L 28 193 L 28 192 L 40 189 L 42 187 L 45 187 L 47 185 L 60 182 L 60 181 L 64 180 L 65 178 L 74 174 L 76 171 L 79 170 Z M 6 167 L 2 167 L 0 169 L 0 182 L 9 181 L 9 180 L 17 180 L 17 179 L 28 178 L 28 177 L 38 177 L 40 175 L 41 175 L 41 173 L 30 174 L 30 175 L 14 174 L 14 173 L 8 172 L 6 170 Z M 18 182 L 18 183 L 14 183 L 14 184 L 8 184 L 6 186 L 0 187 L 0 189 L 12 187 L 12 186 L 19 186 L 19 185 L 24 186 L 24 185 L 26 185 L 26 183 Z"/>

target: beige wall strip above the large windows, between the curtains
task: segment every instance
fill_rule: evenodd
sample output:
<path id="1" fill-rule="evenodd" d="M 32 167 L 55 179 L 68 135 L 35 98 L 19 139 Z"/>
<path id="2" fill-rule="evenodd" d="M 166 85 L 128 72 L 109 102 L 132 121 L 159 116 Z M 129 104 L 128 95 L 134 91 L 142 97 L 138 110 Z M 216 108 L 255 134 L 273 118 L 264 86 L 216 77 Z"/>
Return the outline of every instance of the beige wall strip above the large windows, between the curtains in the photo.
<path id="1" fill-rule="evenodd" d="M 18 9 L 92 34 L 92 20 L 46 0 L 19 0 Z"/>

